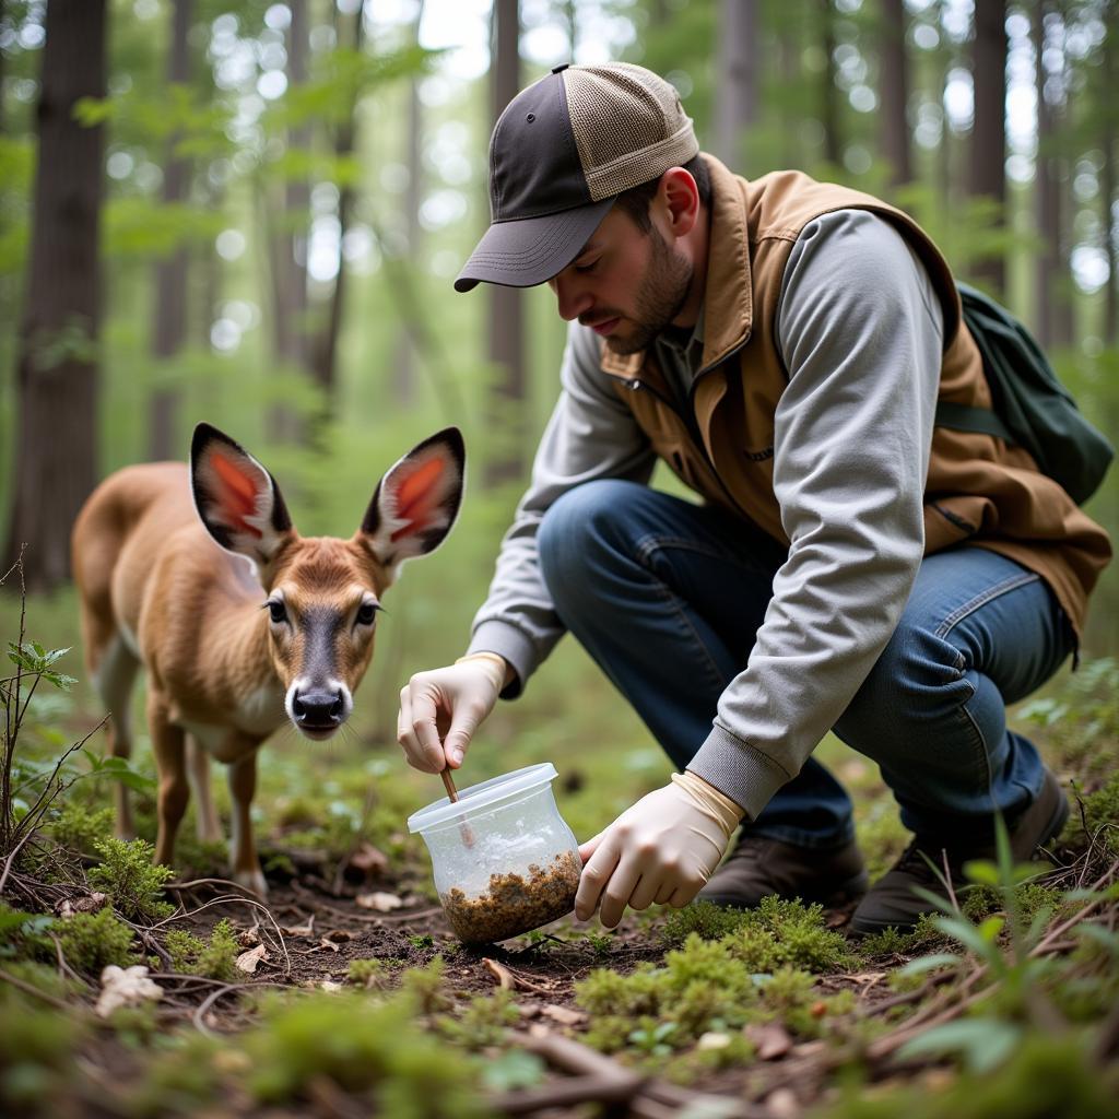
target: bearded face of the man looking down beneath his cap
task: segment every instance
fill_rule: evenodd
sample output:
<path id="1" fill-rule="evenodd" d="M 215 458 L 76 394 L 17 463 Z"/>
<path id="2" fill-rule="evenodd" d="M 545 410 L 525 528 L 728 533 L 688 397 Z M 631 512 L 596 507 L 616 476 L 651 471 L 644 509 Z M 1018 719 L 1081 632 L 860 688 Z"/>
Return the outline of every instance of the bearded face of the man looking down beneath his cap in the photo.
<path id="1" fill-rule="evenodd" d="M 615 206 L 548 286 L 561 318 L 579 319 L 615 354 L 634 354 L 679 313 L 692 276 L 692 261 L 661 236 L 656 223 L 643 233 Z"/>

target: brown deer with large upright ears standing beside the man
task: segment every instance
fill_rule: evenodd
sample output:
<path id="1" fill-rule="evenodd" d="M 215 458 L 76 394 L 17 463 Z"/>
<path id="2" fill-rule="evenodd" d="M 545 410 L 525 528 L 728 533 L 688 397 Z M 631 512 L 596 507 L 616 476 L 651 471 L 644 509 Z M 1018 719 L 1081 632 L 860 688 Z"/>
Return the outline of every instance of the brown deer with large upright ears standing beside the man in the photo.
<path id="1" fill-rule="evenodd" d="M 189 802 L 220 841 L 210 759 L 228 767 L 229 868 L 265 896 L 250 808 L 262 743 L 285 723 L 323 742 L 346 724 L 373 657 L 382 595 L 458 517 L 466 451 L 457 427 L 380 479 L 349 539 L 302 537 L 280 487 L 239 443 L 199 423 L 186 463 L 125 467 L 83 506 L 72 534 L 86 666 L 109 713 L 106 749 L 132 753 L 140 668 L 158 774 L 153 861 L 173 866 Z M 115 834 L 134 837 L 128 790 Z"/>

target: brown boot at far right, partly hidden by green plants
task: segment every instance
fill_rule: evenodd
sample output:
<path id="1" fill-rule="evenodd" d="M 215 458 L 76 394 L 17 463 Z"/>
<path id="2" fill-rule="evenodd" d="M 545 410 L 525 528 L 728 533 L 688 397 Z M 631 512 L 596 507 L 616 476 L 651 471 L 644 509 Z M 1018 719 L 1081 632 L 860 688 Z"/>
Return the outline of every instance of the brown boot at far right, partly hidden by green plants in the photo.
<path id="1" fill-rule="evenodd" d="M 1037 799 L 1009 827 L 1010 852 L 1015 863 L 1028 861 L 1034 852 L 1059 836 L 1069 819 L 1069 801 L 1056 778 L 1046 771 L 1045 783 Z M 935 913 L 931 902 L 915 894 L 914 887 L 928 890 L 938 897 L 944 896 L 944 886 L 929 866 L 929 861 L 940 874 L 948 874 L 953 888 L 965 882 L 963 864 L 971 859 L 996 857 L 995 841 L 968 847 L 947 846 L 942 840 L 915 836 L 902 857 L 871 887 L 852 914 L 850 931 L 856 937 L 884 932 L 894 928 L 909 932 L 922 913 Z"/>

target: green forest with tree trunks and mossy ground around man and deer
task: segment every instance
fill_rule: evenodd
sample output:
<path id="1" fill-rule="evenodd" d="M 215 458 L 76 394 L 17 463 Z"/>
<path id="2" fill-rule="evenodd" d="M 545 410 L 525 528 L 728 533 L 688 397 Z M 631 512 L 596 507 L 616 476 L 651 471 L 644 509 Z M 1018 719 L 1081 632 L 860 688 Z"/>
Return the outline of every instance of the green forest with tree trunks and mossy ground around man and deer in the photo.
<path id="1" fill-rule="evenodd" d="M 799 168 L 908 209 L 1116 441 L 1117 30 L 1115 0 L 0 0 L 0 631 L 41 642 L 8 647 L 20 667 L 0 679 L 0 1104 L 368 1113 L 351 1093 L 473 1117 L 491 1113 L 480 1085 L 519 1113 L 518 1089 L 547 1102 L 558 1082 L 523 1060 L 547 1023 L 623 1073 L 752 1101 L 707 1099 L 705 1115 L 830 1108 L 843 1084 L 849 1110 L 828 1115 L 1109 1113 L 1117 565 L 1081 670 L 1014 712 L 1078 799 L 1057 868 L 1038 885 L 982 864 L 955 923 L 857 951 L 791 903 L 652 912 L 610 934 L 564 924 L 495 959 L 461 949 L 404 828 L 442 788 L 404 765 L 395 720 L 408 675 L 466 646 L 558 388 L 565 327 L 546 288 L 451 286 L 488 222 L 490 130 L 519 88 L 560 63 L 637 62 L 746 177 Z M 262 750 L 254 817 L 282 927 L 215 899 L 225 852 L 188 835 L 166 915 L 142 689 L 135 755 L 110 765 L 81 664 L 74 517 L 111 471 L 184 460 L 200 420 L 270 468 L 304 535 L 349 536 L 434 431 L 467 442 L 461 517 L 386 596 L 352 733 L 317 745 L 285 728 Z M 655 483 L 679 491 L 664 471 Z M 1119 533 L 1119 474 L 1087 509 Z M 50 687 L 69 675 L 72 690 Z M 909 839 L 888 790 L 833 736 L 819 755 L 856 793 L 881 874 Z M 580 838 L 668 773 L 571 640 L 487 721 L 460 784 L 546 760 Z M 131 846 L 110 838 L 116 783 L 135 793 Z M 161 1002 L 98 1024 L 102 968 L 142 960 L 162 969 Z M 280 985 L 329 994 L 260 998 Z M 929 1025 L 939 1040 L 919 1036 Z M 924 1047 L 899 1074 L 909 1042 Z M 944 1053 L 962 1054 L 958 1082 L 930 1066 Z M 859 1090 L 925 1073 L 877 1110 Z M 699 1106 L 674 1090 L 658 1080 L 630 1113 Z"/>

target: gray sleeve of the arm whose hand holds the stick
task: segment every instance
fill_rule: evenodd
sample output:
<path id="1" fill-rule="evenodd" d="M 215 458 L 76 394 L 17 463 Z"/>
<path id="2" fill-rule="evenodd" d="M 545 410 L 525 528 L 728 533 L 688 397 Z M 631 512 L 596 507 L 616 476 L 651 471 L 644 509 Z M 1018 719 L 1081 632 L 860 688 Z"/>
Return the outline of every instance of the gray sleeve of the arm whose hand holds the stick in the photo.
<path id="1" fill-rule="evenodd" d="M 564 633 L 540 575 L 536 533 L 544 514 L 567 490 L 598 478 L 648 482 L 655 457 L 633 414 L 600 368 L 594 331 L 572 325 L 561 368 L 561 392 L 544 431 L 529 488 L 501 542 L 486 602 L 474 617 L 469 652 L 500 653 L 526 680 Z"/>

